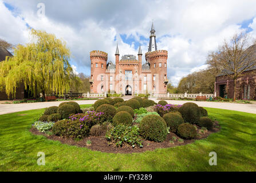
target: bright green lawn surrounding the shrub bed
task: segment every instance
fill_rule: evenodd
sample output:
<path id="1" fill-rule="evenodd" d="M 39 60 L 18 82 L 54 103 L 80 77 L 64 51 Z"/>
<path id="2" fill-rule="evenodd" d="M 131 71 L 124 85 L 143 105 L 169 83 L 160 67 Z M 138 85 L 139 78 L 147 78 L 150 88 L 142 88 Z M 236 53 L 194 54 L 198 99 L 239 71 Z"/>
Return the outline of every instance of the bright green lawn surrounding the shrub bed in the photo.
<path id="1" fill-rule="evenodd" d="M 0 171 L 256 171 L 256 115 L 206 109 L 220 121 L 219 133 L 188 145 L 134 154 L 93 152 L 34 136 L 29 129 L 43 109 L 1 115 Z M 212 151 L 217 166 L 208 164 Z M 38 152 L 45 153 L 45 166 L 37 165 Z"/>

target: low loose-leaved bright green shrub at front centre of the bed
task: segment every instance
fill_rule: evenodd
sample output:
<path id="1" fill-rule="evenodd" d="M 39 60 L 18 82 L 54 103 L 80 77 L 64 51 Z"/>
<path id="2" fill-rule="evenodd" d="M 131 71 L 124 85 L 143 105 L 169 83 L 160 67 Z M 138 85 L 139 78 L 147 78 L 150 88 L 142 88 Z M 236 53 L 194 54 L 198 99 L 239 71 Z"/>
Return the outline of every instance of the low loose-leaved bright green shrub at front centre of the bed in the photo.
<path id="1" fill-rule="evenodd" d="M 112 144 L 118 146 L 131 145 L 143 147 L 142 140 L 139 137 L 139 128 L 135 126 L 117 125 L 115 128 L 109 130 L 106 138 Z"/>

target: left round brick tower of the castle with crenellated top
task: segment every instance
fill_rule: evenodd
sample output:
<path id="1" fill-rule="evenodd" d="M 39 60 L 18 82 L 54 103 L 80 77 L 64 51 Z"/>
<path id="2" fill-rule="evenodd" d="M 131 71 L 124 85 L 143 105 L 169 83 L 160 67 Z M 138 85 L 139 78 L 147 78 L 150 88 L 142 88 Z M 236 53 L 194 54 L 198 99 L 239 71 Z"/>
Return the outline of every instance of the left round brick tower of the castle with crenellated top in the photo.
<path id="1" fill-rule="evenodd" d="M 90 92 L 107 92 L 105 73 L 107 70 L 108 54 L 104 51 L 90 51 Z"/>

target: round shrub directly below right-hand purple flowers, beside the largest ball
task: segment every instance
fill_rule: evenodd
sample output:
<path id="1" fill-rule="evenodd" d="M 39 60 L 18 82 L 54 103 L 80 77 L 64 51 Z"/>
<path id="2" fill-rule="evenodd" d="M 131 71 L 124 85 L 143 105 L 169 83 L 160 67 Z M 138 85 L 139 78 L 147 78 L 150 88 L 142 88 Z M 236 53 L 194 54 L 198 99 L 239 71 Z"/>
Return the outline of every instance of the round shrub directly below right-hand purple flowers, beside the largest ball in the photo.
<path id="1" fill-rule="evenodd" d="M 170 131 L 176 133 L 179 125 L 184 124 L 184 120 L 179 113 L 167 113 L 163 116 L 166 121 L 167 127 L 170 127 Z"/>

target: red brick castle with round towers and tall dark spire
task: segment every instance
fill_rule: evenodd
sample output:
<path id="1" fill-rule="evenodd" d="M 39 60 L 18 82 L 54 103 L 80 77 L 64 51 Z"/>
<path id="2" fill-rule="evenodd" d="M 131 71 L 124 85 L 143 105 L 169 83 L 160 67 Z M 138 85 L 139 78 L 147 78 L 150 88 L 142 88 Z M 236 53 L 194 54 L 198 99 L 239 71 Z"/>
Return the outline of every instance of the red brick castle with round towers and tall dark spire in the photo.
<path id="1" fill-rule="evenodd" d="M 119 59 L 119 47 L 116 46 L 116 62 L 108 61 L 104 51 L 91 51 L 91 93 L 166 94 L 168 51 L 157 50 L 154 25 L 150 31 L 146 62 L 142 64 L 142 51 L 139 47 L 138 59 L 135 55 L 123 55 Z"/>

